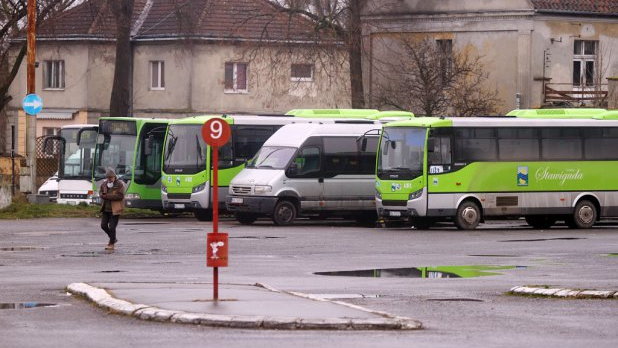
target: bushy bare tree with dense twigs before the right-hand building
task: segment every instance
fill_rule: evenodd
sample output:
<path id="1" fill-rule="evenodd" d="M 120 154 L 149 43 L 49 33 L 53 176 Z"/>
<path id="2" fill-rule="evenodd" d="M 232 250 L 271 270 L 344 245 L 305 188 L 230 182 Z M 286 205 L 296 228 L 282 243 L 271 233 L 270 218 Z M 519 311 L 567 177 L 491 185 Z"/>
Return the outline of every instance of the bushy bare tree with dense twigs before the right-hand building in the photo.
<path id="1" fill-rule="evenodd" d="M 497 91 L 485 86 L 481 57 L 455 50 L 452 41 L 402 38 L 380 62 L 374 100 L 379 107 L 427 116 L 493 114 Z"/>

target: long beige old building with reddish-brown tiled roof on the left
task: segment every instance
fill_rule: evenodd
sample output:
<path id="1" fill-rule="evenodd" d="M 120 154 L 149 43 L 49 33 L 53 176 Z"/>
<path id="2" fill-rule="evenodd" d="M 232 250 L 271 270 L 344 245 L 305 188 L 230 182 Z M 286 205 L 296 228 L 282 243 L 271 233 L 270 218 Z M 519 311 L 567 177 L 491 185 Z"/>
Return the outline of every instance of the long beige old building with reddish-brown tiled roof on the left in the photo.
<path id="1" fill-rule="evenodd" d="M 347 67 L 339 64 L 344 53 L 338 42 L 316 39 L 313 25 L 265 0 L 135 0 L 132 114 L 349 107 Z M 36 91 L 44 101 L 37 136 L 107 115 L 116 35 L 107 0 L 87 0 L 44 23 L 37 35 Z M 335 52 L 333 61 L 312 58 L 316 40 Z M 14 99 L 8 113 L 18 125 L 18 152 L 24 153 L 25 62 L 9 92 Z"/>

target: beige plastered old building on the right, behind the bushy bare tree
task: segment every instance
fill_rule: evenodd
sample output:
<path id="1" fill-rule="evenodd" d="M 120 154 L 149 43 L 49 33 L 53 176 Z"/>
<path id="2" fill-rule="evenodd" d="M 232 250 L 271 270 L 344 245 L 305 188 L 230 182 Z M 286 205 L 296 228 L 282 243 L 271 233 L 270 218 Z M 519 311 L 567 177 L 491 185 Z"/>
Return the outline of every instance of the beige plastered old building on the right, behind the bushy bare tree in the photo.
<path id="1" fill-rule="evenodd" d="M 362 18 L 370 96 L 403 37 L 480 56 L 501 112 L 605 106 L 618 75 L 617 0 L 376 0 Z"/>

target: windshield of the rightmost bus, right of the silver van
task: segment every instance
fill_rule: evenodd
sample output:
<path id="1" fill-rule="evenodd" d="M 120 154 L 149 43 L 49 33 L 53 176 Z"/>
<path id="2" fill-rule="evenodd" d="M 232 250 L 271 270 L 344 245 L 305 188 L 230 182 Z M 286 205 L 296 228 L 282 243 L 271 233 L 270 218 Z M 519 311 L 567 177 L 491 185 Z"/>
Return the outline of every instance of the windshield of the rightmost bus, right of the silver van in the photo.
<path id="1" fill-rule="evenodd" d="M 378 178 L 410 180 L 423 175 L 427 129 L 385 127 L 378 154 Z"/>

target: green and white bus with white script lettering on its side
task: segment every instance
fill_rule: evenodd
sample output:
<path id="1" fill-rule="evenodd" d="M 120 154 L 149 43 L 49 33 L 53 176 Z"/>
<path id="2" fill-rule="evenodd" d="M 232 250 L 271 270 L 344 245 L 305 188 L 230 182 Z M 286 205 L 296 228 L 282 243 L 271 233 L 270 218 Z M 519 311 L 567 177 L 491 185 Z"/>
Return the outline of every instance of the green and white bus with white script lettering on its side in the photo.
<path id="1" fill-rule="evenodd" d="M 418 228 L 525 217 L 590 228 L 618 216 L 618 112 L 586 119 L 416 118 L 384 126 L 376 208 Z"/>

